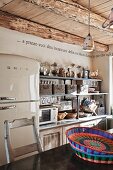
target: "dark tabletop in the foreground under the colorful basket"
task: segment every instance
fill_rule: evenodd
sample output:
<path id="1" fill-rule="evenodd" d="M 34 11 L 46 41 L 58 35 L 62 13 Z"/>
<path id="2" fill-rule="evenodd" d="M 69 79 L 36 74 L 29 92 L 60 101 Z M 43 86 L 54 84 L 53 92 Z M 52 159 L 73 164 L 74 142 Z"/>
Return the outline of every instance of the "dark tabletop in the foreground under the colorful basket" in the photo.
<path id="1" fill-rule="evenodd" d="M 0 170 L 113 170 L 113 164 L 96 164 L 78 158 L 69 144 L 15 161 Z"/>

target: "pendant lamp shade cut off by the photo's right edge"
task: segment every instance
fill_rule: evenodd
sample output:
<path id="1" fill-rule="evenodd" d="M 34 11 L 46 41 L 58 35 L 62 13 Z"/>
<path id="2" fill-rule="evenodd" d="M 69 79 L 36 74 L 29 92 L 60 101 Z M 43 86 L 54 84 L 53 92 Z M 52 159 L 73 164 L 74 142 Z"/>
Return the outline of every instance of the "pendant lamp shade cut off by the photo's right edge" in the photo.
<path id="1" fill-rule="evenodd" d="M 108 18 L 102 24 L 103 28 L 112 28 L 113 29 L 113 8 L 111 8 L 111 12 Z"/>

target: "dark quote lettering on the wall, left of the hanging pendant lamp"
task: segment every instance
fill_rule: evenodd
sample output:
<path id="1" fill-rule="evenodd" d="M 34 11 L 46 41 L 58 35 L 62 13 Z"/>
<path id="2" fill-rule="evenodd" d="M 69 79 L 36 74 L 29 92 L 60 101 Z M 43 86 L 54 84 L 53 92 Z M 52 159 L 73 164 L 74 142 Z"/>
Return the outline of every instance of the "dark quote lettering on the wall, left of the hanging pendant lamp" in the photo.
<path id="1" fill-rule="evenodd" d="M 26 46 L 36 46 L 36 47 L 40 47 L 40 48 L 47 48 L 47 49 L 50 49 L 50 50 L 55 50 L 55 51 L 59 51 L 59 52 L 63 52 L 63 53 L 69 53 L 69 54 L 74 54 L 74 55 L 81 55 L 81 56 L 86 56 L 88 57 L 87 54 L 84 54 L 84 53 L 80 53 L 80 52 L 76 52 L 72 49 L 63 49 L 61 47 L 56 47 L 56 46 L 52 46 L 50 44 L 44 44 L 44 43 L 37 43 L 37 42 L 33 42 L 33 41 L 28 41 L 28 40 L 22 40 L 22 41 L 17 41 L 18 43 L 22 43 Z"/>

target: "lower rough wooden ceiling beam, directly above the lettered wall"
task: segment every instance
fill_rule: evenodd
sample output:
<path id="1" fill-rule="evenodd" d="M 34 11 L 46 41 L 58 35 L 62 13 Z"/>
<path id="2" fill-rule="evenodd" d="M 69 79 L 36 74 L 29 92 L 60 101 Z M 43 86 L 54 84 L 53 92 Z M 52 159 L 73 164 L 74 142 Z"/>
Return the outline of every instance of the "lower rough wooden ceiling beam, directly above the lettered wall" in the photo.
<path id="1" fill-rule="evenodd" d="M 34 23 L 3 11 L 0 11 L 0 26 L 45 39 L 57 40 L 80 46 L 83 45 L 84 41 L 84 38 L 82 37 Z M 109 47 L 107 45 L 95 42 L 95 50 L 108 51 L 108 49 Z"/>

